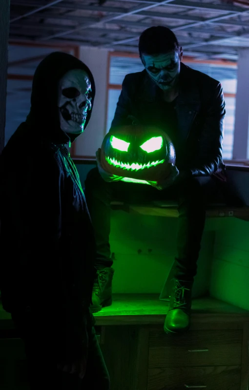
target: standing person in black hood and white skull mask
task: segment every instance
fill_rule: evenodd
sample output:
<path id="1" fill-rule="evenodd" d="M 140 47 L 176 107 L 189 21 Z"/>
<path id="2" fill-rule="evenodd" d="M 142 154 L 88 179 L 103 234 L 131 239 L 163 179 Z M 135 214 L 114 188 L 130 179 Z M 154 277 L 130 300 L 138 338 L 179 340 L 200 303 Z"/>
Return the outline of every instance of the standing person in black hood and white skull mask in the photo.
<path id="1" fill-rule="evenodd" d="M 0 156 L 1 299 L 24 340 L 31 389 L 110 386 L 89 311 L 94 232 L 65 146 L 86 128 L 94 97 L 82 61 L 50 54 Z"/>

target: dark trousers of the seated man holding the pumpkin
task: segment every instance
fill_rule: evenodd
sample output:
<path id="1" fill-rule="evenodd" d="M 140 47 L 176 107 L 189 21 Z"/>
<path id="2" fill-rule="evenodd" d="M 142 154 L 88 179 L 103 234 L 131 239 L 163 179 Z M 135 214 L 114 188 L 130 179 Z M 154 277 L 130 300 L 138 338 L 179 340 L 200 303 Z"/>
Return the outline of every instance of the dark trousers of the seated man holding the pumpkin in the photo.
<path id="1" fill-rule="evenodd" d="M 179 228 L 177 237 L 176 277 L 193 281 L 205 225 L 206 204 L 218 196 L 216 181 L 211 177 L 191 178 L 179 185 L 159 191 L 146 184 L 116 181 L 107 183 L 97 168 L 85 180 L 85 197 L 97 242 L 95 267 L 111 267 L 109 234 L 110 202 L 118 199 L 141 204 L 148 200 L 178 200 Z"/>

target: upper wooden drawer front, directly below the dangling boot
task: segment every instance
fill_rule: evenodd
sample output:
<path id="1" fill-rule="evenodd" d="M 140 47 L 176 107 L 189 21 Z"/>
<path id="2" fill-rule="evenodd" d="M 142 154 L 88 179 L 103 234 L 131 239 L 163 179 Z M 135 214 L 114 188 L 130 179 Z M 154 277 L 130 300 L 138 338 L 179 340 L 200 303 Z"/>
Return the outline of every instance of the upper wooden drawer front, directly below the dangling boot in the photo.
<path id="1" fill-rule="evenodd" d="M 149 368 L 237 366 L 241 364 L 242 331 L 188 331 L 166 337 L 151 331 Z"/>

